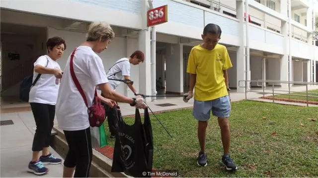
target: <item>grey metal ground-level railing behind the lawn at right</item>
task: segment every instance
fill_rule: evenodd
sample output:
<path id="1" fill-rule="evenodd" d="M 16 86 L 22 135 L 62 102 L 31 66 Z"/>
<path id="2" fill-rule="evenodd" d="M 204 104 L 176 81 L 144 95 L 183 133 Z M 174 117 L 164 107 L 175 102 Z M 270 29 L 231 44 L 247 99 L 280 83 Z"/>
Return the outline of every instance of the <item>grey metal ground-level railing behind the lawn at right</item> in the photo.
<path id="1" fill-rule="evenodd" d="M 244 83 L 244 86 L 240 85 L 242 82 Z M 314 85 L 318 86 L 318 83 L 315 83 L 315 82 L 292 82 L 292 81 L 278 81 L 278 80 L 257 80 L 257 81 L 241 80 L 241 81 L 239 81 L 239 88 L 245 88 L 245 99 L 247 99 L 247 92 L 261 93 L 261 91 L 259 91 L 259 90 L 250 90 L 250 89 L 247 90 L 247 88 L 246 88 L 247 83 L 249 83 L 249 86 L 250 86 L 250 84 L 252 82 L 256 82 L 258 87 L 262 87 L 262 89 L 263 89 L 263 91 L 262 91 L 263 97 L 265 97 L 265 94 L 272 94 L 273 102 L 275 100 L 275 97 L 274 97 L 275 94 L 288 95 L 289 99 L 290 99 L 290 96 L 306 96 L 307 106 L 309 106 L 309 104 L 308 104 L 308 98 L 309 97 L 318 98 L 318 93 L 317 92 L 314 93 L 314 92 L 309 92 L 308 91 L 308 86 L 314 86 Z M 261 85 L 259 83 L 261 83 Z M 266 89 L 266 83 L 268 83 L 268 84 L 270 83 L 271 84 L 271 85 L 268 85 L 269 87 L 271 87 L 271 89 Z M 288 84 L 288 90 L 274 89 L 275 84 Z M 291 91 L 291 88 L 292 88 L 291 85 L 292 84 L 306 85 L 306 91 Z M 271 92 L 267 92 L 267 90 L 270 90 Z M 275 93 L 275 91 L 282 91 L 282 92 L 288 92 L 288 93 L 277 93 L 277 92 Z M 292 94 L 291 92 L 292 93 L 293 92 L 306 93 L 306 95 L 305 94 Z M 313 95 L 309 95 L 309 94 L 317 94 L 317 95 L 313 96 Z"/>

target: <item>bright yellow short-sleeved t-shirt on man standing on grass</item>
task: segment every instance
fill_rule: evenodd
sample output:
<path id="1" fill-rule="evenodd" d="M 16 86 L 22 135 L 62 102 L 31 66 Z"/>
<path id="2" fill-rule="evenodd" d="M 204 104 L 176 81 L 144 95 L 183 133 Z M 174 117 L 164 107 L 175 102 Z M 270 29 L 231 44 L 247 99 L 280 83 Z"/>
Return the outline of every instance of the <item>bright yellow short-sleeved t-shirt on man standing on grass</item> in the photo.
<path id="1" fill-rule="evenodd" d="M 228 95 L 223 70 L 232 67 L 227 48 L 217 44 L 213 50 L 201 45 L 191 49 L 187 73 L 196 74 L 194 99 L 208 101 Z"/>

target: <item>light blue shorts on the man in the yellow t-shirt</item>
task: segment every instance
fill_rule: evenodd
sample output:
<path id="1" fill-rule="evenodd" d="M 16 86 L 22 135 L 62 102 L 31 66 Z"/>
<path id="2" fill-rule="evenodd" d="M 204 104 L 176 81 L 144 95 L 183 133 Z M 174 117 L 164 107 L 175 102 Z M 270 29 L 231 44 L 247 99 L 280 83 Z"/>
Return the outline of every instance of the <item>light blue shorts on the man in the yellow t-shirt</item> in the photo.
<path id="1" fill-rule="evenodd" d="M 229 96 L 223 96 L 210 101 L 194 100 L 192 115 L 199 121 L 208 121 L 210 113 L 218 118 L 228 118 L 231 113 Z"/>

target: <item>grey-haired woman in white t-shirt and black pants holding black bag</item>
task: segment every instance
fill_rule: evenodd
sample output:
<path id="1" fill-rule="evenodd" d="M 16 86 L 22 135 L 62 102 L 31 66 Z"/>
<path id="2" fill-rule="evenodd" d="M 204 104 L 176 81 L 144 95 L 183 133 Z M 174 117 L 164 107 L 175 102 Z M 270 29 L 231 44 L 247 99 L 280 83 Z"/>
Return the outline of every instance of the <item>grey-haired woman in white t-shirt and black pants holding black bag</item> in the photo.
<path id="1" fill-rule="evenodd" d="M 112 28 L 107 23 L 93 22 L 89 26 L 86 42 L 74 51 L 74 73 L 87 98 L 88 107 L 91 106 L 98 86 L 109 99 L 99 94 L 98 97 L 111 107 L 118 101 L 145 109 L 147 105 L 142 97 L 126 97 L 112 90 L 108 84 L 103 62 L 96 53 L 106 49 L 114 36 Z M 56 106 L 58 125 L 64 131 L 69 145 L 63 177 L 72 177 L 76 168 L 74 177 L 86 178 L 92 161 L 90 125 L 87 107 L 71 76 L 70 59 L 71 56 L 66 63 Z"/>

